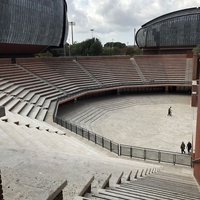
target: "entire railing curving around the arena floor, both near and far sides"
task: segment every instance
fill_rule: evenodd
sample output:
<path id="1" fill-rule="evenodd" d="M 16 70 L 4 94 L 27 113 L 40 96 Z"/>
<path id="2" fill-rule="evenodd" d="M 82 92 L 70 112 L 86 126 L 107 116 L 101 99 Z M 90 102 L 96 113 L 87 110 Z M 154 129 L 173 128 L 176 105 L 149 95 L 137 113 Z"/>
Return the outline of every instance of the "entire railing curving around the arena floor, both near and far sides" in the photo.
<path id="1" fill-rule="evenodd" d="M 177 84 L 177 83 L 176 83 Z M 150 86 L 149 84 L 147 84 Z M 152 86 L 155 86 L 156 84 L 152 84 Z M 165 85 L 162 83 L 162 85 Z M 166 85 L 169 85 L 166 84 Z M 91 131 L 88 131 L 86 129 L 83 129 L 82 127 L 77 126 L 76 124 L 70 123 L 68 121 L 63 121 L 62 119 L 57 117 L 57 111 L 58 111 L 58 106 L 59 103 L 63 100 L 72 100 L 75 98 L 78 98 L 82 95 L 87 95 L 92 92 L 103 92 L 106 89 L 110 90 L 116 90 L 116 89 L 123 89 L 125 87 L 129 86 L 136 86 L 133 84 L 110 84 L 102 87 L 86 87 L 84 89 L 80 89 L 76 92 L 63 95 L 59 98 L 57 98 L 56 101 L 56 106 L 54 109 L 53 113 L 53 122 L 65 127 L 66 129 L 69 129 L 70 131 L 79 134 L 82 137 L 87 138 L 88 140 L 94 142 L 97 145 L 100 145 L 103 148 L 106 148 L 110 150 L 113 153 L 118 154 L 118 156 L 129 156 L 130 158 L 142 158 L 144 160 L 156 160 L 158 162 L 168 162 L 168 163 L 173 163 L 175 164 L 180 164 L 180 165 L 187 165 L 187 166 L 192 166 L 192 159 L 188 155 L 182 155 L 181 153 L 177 152 L 172 152 L 172 151 L 164 151 L 164 150 L 159 150 L 159 149 L 150 149 L 150 148 L 142 148 L 142 147 L 134 147 L 130 145 L 124 145 L 124 144 L 118 144 L 116 142 L 113 142 L 105 137 L 102 137 L 96 133 L 93 133 Z M 144 85 L 140 85 L 144 86 Z M 89 93 L 88 93 L 89 92 Z M 143 157 L 141 155 L 134 155 L 135 151 L 140 151 L 140 153 L 143 154 Z M 148 153 L 155 153 L 157 158 L 152 158 Z M 168 160 L 169 158 L 163 158 L 163 155 L 165 156 L 170 156 L 171 160 Z M 155 157 L 156 157 L 155 156 Z M 180 159 L 181 158 L 181 159 Z"/>

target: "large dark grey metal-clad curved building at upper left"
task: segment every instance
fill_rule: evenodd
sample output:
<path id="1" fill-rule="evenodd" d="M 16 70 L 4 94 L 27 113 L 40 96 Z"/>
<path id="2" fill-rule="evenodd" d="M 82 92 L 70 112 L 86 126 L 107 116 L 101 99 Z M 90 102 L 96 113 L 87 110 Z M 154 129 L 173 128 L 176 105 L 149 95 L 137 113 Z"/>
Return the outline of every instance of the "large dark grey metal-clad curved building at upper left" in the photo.
<path id="1" fill-rule="evenodd" d="M 61 47 L 68 34 L 65 0 L 0 1 L 0 55 Z"/>

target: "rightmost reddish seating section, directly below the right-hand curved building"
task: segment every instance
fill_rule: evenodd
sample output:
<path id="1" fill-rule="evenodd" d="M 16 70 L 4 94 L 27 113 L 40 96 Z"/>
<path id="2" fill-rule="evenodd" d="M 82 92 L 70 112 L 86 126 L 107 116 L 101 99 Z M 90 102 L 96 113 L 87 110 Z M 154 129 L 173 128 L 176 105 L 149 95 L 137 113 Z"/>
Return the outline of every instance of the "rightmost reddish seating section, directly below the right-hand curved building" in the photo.
<path id="1" fill-rule="evenodd" d="M 142 55 L 134 56 L 142 74 L 148 82 L 185 83 L 192 81 L 188 77 L 185 54 L 178 55 Z M 187 77 L 187 78 L 186 78 Z"/>

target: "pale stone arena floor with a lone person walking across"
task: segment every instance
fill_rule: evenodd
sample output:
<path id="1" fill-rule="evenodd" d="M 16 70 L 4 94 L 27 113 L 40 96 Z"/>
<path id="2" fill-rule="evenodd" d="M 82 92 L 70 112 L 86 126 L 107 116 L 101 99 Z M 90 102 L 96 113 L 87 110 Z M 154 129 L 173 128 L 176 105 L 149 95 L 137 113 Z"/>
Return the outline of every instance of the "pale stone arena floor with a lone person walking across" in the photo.
<path id="1" fill-rule="evenodd" d="M 180 152 L 181 142 L 195 137 L 197 109 L 190 100 L 182 94 L 101 97 L 65 105 L 62 117 L 120 144 Z M 93 116 L 79 117 L 84 114 Z"/>

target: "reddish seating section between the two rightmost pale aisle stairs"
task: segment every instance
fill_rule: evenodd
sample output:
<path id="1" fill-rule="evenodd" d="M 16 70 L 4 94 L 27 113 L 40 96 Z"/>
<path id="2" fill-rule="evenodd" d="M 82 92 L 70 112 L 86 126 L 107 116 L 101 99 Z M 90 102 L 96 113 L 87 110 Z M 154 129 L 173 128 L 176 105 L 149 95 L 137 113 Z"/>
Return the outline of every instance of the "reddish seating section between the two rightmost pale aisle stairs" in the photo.
<path id="1" fill-rule="evenodd" d="M 77 58 L 77 61 L 101 84 L 142 83 L 142 80 L 130 61 L 123 57 Z"/>

